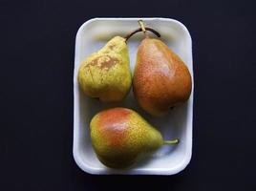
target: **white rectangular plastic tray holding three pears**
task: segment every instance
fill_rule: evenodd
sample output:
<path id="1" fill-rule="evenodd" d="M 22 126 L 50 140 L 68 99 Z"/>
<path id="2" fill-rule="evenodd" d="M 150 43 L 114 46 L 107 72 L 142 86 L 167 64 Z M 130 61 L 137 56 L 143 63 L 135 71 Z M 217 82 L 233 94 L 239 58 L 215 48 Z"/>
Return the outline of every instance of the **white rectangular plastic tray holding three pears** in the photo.
<path id="1" fill-rule="evenodd" d="M 142 19 L 146 26 L 160 32 L 161 40 L 181 56 L 193 79 L 191 37 L 180 22 L 169 18 L 95 18 L 84 23 L 78 30 L 75 40 L 74 158 L 77 165 L 90 174 L 173 175 L 184 169 L 191 159 L 193 89 L 186 103 L 174 108 L 165 117 L 152 117 L 139 108 L 132 90 L 121 103 L 114 104 L 102 103 L 84 96 L 78 87 L 77 70 L 80 62 L 91 53 L 98 51 L 113 36 L 125 36 L 128 32 L 139 28 L 139 19 Z M 152 37 L 155 37 L 154 34 Z M 128 42 L 132 71 L 142 38 L 143 34 L 140 32 Z M 93 150 L 89 123 L 97 112 L 116 106 L 138 111 L 160 130 L 165 139 L 180 138 L 181 142 L 174 146 L 162 146 L 146 160 L 134 164 L 129 169 L 115 170 L 105 167 L 96 158 Z"/>

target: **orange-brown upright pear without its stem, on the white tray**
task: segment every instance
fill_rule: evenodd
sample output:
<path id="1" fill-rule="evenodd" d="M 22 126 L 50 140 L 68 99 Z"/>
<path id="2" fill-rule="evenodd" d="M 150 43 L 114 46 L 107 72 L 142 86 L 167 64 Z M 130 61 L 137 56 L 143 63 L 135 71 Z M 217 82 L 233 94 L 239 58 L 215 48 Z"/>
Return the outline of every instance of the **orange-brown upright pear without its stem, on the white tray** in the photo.
<path id="1" fill-rule="evenodd" d="M 133 90 L 146 112 L 162 116 L 186 101 L 191 87 L 191 75 L 179 55 L 159 39 L 142 40 L 137 53 Z"/>

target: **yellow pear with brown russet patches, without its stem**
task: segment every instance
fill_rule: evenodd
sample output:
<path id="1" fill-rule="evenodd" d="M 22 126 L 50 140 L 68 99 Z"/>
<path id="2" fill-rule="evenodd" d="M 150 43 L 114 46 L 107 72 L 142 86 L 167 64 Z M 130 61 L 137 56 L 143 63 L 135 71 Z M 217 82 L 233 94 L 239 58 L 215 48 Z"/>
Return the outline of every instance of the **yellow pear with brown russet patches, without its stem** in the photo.
<path id="1" fill-rule="evenodd" d="M 80 65 L 78 82 L 87 96 L 104 102 L 122 100 L 132 84 L 125 39 L 115 36 L 101 50 L 87 57 Z"/>

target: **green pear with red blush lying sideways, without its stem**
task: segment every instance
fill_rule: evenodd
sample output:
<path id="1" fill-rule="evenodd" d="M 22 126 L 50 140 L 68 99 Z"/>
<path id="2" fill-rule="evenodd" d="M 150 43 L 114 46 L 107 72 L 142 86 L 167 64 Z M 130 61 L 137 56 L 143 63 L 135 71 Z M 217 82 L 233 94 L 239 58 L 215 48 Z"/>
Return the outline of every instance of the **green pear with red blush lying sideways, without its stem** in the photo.
<path id="1" fill-rule="evenodd" d="M 90 123 L 97 158 L 111 168 L 125 168 L 139 154 L 158 149 L 160 132 L 133 110 L 113 108 L 96 114 Z"/>

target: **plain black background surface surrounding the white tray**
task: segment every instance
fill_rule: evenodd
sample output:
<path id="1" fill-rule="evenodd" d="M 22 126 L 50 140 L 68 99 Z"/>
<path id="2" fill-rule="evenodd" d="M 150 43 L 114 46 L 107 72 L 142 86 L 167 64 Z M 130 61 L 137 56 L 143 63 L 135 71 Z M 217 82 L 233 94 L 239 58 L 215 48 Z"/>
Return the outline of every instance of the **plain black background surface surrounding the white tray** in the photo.
<path id="1" fill-rule="evenodd" d="M 0 190 L 256 190 L 253 0 L 0 4 Z M 73 159 L 75 33 L 116 16 L 175 18 L 191 33 L 193 157 L 178 175 L 92 176 Z"/>

